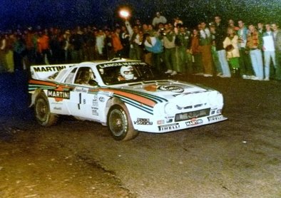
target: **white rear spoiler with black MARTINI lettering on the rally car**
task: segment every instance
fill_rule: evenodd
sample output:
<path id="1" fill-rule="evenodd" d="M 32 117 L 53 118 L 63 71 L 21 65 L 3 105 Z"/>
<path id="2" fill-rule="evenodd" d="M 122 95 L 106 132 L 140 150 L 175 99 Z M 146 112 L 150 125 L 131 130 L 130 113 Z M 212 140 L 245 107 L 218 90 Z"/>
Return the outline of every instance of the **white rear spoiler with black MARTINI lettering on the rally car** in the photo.
<path id="1" fill-rule="evenodd" d="M 31 78 L 44 80 L 49 76 L 66 68 L 71 68 L 77 64 L 62 64 L 62 65 L 45 65 L 45 66 L 31 66 Z"/>

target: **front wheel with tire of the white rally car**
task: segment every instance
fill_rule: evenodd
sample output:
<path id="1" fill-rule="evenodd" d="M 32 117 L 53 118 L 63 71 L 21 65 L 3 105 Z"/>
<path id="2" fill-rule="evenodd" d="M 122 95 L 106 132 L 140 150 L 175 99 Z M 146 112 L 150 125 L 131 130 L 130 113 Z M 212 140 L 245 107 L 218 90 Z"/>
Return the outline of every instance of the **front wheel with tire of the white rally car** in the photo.
<path id="1" fill-rule="evenodd" d="M 138 135 L 128 115 L 128 110 L 123 104 L 113 105 L 108 111 L 108 130 L 115 140 L 132 140 Z"/>

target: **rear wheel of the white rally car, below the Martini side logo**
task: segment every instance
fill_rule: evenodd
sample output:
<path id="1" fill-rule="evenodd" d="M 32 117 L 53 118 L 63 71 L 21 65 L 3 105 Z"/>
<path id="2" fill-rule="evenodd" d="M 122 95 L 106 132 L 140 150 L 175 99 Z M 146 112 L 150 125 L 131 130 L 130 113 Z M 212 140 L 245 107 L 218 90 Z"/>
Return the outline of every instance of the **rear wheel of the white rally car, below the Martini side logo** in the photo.
<path id="1" fill-rule="evenodd" d="M 58 116 L 50 112 L 48 98 L 44 93 L 37 95 L 34 103 L 34 113 L 37 122 L 44 127 L 54 125 L 58 120 Z"/>

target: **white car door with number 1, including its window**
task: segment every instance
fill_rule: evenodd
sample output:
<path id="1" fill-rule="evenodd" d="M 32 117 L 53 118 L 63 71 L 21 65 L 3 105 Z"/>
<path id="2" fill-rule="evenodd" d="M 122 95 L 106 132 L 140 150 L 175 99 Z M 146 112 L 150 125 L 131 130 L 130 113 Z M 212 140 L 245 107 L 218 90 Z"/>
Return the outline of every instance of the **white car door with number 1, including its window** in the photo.
<path id="1" fill-rule="evenodd" d="M 86 73 L 88 73 L 87 76 L 85 76 Z M 86 120 L 99 120 L 98 85 L 90 85 L 86 82 L 94 80 L 95 76 L 90 67 L 78 68 L 73 78 L 73 90 L 71 90 L 71 100 L 68 103 L 71 115 Z"/>

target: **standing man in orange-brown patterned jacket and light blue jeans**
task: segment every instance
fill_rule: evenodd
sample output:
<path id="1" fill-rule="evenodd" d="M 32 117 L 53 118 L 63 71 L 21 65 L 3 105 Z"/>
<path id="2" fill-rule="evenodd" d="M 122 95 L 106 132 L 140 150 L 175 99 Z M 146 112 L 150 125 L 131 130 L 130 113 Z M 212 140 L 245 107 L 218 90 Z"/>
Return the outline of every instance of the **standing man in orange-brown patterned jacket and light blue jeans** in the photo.
<path id="1" fill-rule="evenodd" d="M 250 48 L 252 68 L 255 71 L 255 78 L 252 78 L 252 80 L 263 80 L 262 52 L 259 45 L 259 33 L 255 26 L 250 24 L 249 33 L 247 34 L 247 47 Z"/>

